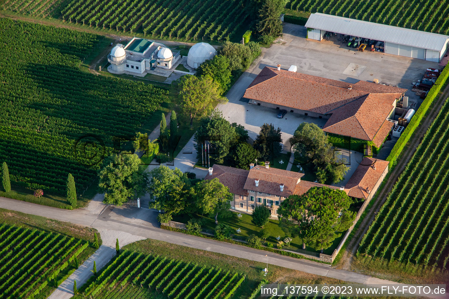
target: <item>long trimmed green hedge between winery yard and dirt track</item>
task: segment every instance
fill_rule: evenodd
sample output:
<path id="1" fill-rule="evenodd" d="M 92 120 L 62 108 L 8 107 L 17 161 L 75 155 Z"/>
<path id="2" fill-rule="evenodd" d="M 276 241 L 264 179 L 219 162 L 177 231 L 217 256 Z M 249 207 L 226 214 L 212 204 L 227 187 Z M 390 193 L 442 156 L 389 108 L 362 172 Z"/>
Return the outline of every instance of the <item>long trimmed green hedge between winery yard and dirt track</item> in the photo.
<path id="1" fill-rule="evenodd" d="M 387 161 L 390 164 L 396 164 L 396 159 L 401 154 L 402 150 L 405 147 L 405 144 L 409 141 L 410 137 L 413 135 L 416 128 L 421 123 L 421 120 L 426 115 L 427 110 L 429 110 L 431 104 L 438 96 L 441 88 L 445 85 L 446 80 L 449 78 L 449 67 L 446 65 L 445 69 L 440 74 L 440 77 L 436 79 L 435 84 L 430 89 L 429 93 L 426 96 L 426 99 L 423 101 L 423 104 L 419 106 L 418 111 L 416 111 L 414 117 L 409 122 L 409 125 L 405 128 L 404 132 L 402 132 L 401 137 L 396 142 L 393 147 L 390 155 L 387 157 Z"/>

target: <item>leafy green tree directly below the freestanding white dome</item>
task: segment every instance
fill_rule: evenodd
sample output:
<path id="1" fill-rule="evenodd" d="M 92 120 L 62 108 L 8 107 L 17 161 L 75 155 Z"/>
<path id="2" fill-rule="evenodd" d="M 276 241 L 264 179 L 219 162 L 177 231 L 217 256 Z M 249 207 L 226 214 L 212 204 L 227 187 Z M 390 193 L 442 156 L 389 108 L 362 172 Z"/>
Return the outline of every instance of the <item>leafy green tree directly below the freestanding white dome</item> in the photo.
<path id="1" fill-rule="evenodd" d="M 204 61 L 196 69 L 195 76 L 208 76 L 219 84 L 218 93 L 224 95 L 231 84 L 231 70 L 229 59 L 223 55 L 216 55 L 210 60 Z"/>

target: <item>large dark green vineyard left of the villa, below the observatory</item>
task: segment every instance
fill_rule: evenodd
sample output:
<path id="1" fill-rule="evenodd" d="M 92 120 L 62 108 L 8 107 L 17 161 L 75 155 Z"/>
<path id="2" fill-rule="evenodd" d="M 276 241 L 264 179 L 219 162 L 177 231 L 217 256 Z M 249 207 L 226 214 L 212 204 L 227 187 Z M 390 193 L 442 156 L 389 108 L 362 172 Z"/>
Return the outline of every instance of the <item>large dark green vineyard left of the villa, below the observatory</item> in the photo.
<path id="1" fill-rule="evenodd" d="M 15 185 L 64 195 L 72 173 L 83 191 L 113 138 L 135 136 L 167 91 L 80 69 L 98 35 L 6 18 L 0 27 L 0 161 Z"/>

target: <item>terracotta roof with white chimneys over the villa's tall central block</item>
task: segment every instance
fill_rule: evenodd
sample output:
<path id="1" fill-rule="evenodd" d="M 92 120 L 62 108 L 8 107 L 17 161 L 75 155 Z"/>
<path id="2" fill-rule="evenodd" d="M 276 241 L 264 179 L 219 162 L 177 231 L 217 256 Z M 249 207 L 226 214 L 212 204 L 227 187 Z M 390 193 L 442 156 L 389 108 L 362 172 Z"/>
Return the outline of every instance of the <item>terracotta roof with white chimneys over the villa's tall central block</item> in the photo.
<path id="1" fill-rule="evenodd" d="M 303 176 L 304 173 L 297 173 L 273 167 L 266 169 L 265 166 L 259 165 L 249 171 L 244 188 L 247 190 L 288 197 L 293 194 L 296 184 Z M 259 186 L 257 187 L 255 186 L 255 180 L 259 180 Z M 281 192 L 279 185 L 282 184 L 284 184 L 284 189 Z"/>

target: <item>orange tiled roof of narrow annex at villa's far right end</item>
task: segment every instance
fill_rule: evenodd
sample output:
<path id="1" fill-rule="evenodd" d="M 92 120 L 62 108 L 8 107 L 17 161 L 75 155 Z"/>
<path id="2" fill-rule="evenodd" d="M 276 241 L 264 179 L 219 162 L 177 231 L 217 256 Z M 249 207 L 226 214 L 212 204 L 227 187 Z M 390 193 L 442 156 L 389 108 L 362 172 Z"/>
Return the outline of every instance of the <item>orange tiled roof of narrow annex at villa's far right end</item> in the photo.
<path id="1" fill-rule="evenodd" d="M 388 167 L 388 163 L 388 161 L 371 157 L 363 158 L 346 186 L 344 186 L 346 193 L 352 197 L 367 199 L 382 176 L 383 171 Z"/>

